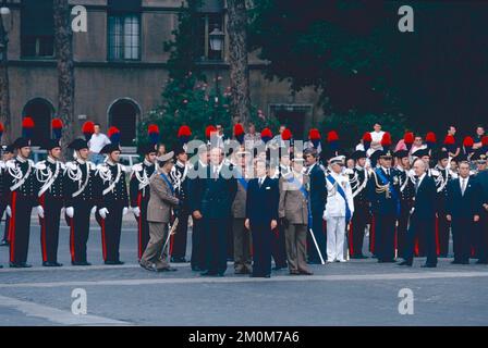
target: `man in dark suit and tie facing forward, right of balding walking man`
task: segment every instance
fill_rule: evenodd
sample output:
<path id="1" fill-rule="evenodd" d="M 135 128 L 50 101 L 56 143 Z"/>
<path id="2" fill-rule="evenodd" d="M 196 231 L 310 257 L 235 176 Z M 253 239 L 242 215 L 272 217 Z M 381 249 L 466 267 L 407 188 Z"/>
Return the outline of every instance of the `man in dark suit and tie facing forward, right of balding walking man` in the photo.
<path id="1" fill-rule="evenodd" d="M 448 184 L 447 219 L 451 222 L 454 244 L 452 263 L 468 264 L 475 223 L 481 212 L 481 187 L 469 176 L 469 163 L 460 163 L 460 177 Z"/>

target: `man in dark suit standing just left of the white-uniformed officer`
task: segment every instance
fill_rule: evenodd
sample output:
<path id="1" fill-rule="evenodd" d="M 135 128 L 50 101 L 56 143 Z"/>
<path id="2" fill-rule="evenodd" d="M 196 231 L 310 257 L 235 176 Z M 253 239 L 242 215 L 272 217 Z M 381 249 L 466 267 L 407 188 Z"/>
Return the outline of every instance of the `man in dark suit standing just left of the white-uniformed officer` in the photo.
<path id="1" fill-rule="evenodd" d="M 326 234 L 324 233 L 324 209 L 327 202 L 326 174 L 318 164 L 318 153 L 316 149 L 309 148 L 304 151 L 305 161 L 308 169 L 307 174 L 310 177 L 310 210 L 312 210 L 312 231 L 320 249 L 322 257 L 327 254 Z M 308 262 L 320 263 L 317 249 L 310 234 L 307 235 Z"/>

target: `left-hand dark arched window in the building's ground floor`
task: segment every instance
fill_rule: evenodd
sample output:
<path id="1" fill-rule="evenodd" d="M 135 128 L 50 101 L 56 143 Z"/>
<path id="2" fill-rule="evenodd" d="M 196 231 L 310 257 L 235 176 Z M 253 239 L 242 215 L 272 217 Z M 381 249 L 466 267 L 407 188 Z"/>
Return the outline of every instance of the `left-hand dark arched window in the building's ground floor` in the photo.
<path id="1" fill-rule="evenodd" d="M 34 121 L 32 144 L 41 145 L 42 140 L 51 137 L 51 117 L 54 113 L 52 104 L 42 98 L 28 101 L 22 112 L 22 116 L 30 116 Z"/>

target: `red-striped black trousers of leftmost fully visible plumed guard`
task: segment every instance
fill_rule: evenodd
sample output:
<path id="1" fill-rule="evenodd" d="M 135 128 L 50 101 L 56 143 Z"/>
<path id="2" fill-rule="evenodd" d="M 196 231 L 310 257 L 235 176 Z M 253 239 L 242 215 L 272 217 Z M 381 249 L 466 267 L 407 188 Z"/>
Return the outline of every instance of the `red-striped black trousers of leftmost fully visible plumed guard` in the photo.
<path id="1" fill-rule="evenodd" d="M 12 217 L 9 224 L 10 262 L 27 262 L 28 240 L 30 236 L 30 213 L 35 197 L 12 192 Z"/>

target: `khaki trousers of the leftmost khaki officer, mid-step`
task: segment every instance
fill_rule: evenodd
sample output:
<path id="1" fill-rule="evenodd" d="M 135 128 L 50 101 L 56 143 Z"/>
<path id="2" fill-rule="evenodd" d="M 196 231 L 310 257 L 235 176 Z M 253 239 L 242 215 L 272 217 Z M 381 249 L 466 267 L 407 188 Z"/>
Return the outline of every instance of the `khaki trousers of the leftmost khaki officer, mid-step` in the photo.
<path id="1" fill-rule="evenodd" d="M 156 264 L 158 270 L 168 269 L 169 243 L 164 250 L 162 247 L 168 238 L 168 224 L 162 222 L 149 222 L 149 243 L 141 258 L 141 263 L 145 265 Z"/>

